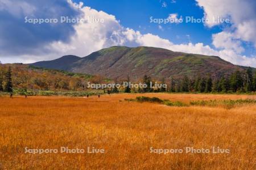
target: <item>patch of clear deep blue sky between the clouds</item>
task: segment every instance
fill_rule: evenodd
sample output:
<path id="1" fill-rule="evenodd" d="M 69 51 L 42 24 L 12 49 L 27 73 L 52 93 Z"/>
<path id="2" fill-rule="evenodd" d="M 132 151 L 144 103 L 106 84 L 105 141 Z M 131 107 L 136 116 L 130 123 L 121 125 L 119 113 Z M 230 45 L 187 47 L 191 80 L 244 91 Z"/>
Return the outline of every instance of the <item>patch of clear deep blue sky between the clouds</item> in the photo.
<path id="1" fill-rule="evenodd" d="M 79 2 L 79 1 L 76 1 Z M 108 14 L 115 15 L 120 23 L 129 28 L 141 31 L 142 33 L 154 33 L 170 39 L 176 43 L 184 43 L 192 41 L 204 42 L 211 44 L 212 33 L 220 32 L 221 29 L 214 27 L 208 29 L 201 23 L 181 23 L 181 24 L 160 24 L 164 31 L 158 28 L 157 23 L 150 23 L 150 16 L 153 18 L 167 18 L 169 14 L 177 13 L 183 16 L 194 16 L 195 18 L 203 18 L 204 11 L 197 6 L 193 0 L 176 1 L 100 1 L 100 0 L 84 0 L 86 6 L 90 6 L 96 10 L 102 10 Z M 167 6 L 163 7 L 163 3 Z M 141 26 L 141 27 L 139 27 Z M 186 35 L 190 35 L 190 39 Z"/>

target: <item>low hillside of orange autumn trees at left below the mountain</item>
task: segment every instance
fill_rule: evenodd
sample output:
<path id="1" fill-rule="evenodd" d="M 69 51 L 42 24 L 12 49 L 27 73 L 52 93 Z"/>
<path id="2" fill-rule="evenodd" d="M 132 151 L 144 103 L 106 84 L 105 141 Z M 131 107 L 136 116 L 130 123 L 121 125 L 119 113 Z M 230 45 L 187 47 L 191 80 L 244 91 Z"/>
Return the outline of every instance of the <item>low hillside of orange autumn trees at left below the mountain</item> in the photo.
<path id="1" fill-rule="evenodd" d="M 10 70 L 9 70 L 10 69 Z M 0 64 L 0 91 L 10 91 L 8 77 L 12 88 L 25 90 L 85 90 L 86 82 L 104 81 L 101 76 L 69 73 L 67 71 L 43 69 L 20 63 Z"/>

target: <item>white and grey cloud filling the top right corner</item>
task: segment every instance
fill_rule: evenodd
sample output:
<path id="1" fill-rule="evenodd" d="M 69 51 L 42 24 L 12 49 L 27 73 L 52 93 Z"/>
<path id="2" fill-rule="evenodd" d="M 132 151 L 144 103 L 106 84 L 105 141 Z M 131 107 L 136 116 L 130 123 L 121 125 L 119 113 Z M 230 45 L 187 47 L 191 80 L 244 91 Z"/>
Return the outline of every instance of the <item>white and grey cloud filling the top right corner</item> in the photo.
<path id="1" fill-rule="evenodd" d="M 212 22 L 213 27 L 220 23 L 213 22 L 213 18 L 230 18 L 232 25 L 230 32 L 233 37 L 243 41 L 253 42 L 256 47 L 256 1 L 255 0 L 196 0 L 204 9 L 205 18 Z"/>

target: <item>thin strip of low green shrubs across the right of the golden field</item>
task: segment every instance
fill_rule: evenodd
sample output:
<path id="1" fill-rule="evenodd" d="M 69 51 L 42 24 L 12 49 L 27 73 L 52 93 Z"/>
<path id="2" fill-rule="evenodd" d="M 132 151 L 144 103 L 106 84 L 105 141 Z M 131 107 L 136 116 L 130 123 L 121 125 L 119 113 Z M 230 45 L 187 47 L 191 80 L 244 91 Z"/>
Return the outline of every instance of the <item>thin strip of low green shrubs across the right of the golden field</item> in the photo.
<path id="1" fill-rule="evenodd" d="M 170 100 L 162 100 L 158 97 L 145 97 L 139 96 L 136 99 L 125 99 L 126 101 L 138 101 L 138 102 L 150 102 L 150 103 L 159 103 L 168 106 L 176 106 L 176 107 L 186 107 L 186 106 L 208 106 L 208 107 L 224 107 L 227 109 L 233 108 L 239 105 L 245 104 L 256 104 L 256 100 L 253 99 L 238 99 L 238 100 L 198 100 L 191 101 L 189 104 L 185 104 L 181 101 L 170 101 Z"/>

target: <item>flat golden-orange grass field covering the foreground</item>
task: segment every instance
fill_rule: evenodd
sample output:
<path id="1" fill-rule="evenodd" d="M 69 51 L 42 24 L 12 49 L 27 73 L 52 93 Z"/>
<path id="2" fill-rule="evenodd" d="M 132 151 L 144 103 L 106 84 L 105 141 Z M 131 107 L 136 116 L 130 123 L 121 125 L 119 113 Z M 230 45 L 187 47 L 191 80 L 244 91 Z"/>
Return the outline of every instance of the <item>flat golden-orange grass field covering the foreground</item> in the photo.
<path id="1" fill-rule="evenodd" d="M 256 105 L 168 107 L 142 94 L 0 97 L 2 169 L 256 169 Z M 143 94 L 171 101 L 255 95 Z M 28 154 L 27 148 L 104 148 L 105 154 Z M 228 148 L 230 154 L 154 154 L 153 148 Z M 0 169 L 1 169 L 0 168 Z"/>

